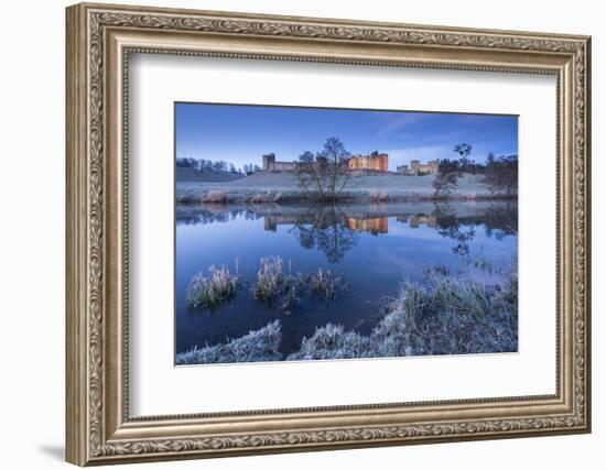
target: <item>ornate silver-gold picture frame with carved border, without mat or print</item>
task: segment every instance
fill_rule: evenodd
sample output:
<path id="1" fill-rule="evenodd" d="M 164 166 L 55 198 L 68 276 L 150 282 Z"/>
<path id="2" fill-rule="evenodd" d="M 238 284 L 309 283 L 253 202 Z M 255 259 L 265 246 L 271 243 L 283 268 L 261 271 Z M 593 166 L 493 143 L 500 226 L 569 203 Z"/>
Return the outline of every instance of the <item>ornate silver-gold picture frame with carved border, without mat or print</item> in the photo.
<path id="1" fill-rule="evenodd" d="M 588 433 L 589 37 L 208 11 L 67 9 L 67 460 L 85 466 Z M 131 52 L 558 77 L 556 393 L 193 416 L 128 412 Z"/>

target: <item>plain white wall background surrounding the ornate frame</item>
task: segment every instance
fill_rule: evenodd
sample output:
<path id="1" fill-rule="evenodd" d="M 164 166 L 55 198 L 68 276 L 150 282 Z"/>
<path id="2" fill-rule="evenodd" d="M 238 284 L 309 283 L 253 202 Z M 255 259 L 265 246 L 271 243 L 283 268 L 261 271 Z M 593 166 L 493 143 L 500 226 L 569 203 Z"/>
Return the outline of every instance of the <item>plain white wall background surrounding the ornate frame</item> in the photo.
<path id="1" fill-rule="evenodd" d="M 134 3 L 121 0 L 125 3 Z M 147 0 L 148 4 L 593 35 L 594 433 L 220 460 L 144 468 L 307 469 L 602 468 L 606 446 L 606 295 L 600 155 L 606 139 L 606 32 L 599 3 L 374 0 Z M 3 468 L 65 468 L 64 442 L 64 8 L 63 0 L 2 6 L 0 74 L 0 441 Z M 600 214 L 602 212 L 602 214 Z"/>

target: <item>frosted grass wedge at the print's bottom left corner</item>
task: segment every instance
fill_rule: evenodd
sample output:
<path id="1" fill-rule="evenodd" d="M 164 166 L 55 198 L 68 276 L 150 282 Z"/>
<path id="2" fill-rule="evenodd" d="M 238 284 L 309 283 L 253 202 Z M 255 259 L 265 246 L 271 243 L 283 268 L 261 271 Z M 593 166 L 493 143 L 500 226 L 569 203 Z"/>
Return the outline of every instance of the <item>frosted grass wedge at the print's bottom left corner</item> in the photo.
<path id="1" fill-rule="evenodd" d="M 212 364 L 225 362 L 279 361 L 282 341 L 280 320 L 274 320 L 261 329 L 250 331 L 241 338 L 231 339 L 224 345 L 193 348 L 176 354 L 177 365 Z"/>

